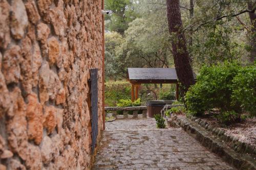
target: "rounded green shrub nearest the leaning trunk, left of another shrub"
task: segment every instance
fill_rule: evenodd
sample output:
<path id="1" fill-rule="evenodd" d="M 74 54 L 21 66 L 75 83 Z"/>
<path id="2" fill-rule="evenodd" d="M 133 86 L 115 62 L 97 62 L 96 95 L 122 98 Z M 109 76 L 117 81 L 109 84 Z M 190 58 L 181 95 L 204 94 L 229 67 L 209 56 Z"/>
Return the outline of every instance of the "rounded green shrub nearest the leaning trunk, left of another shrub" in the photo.
<path id="1" fill-rule="evenodd" d="M 213 108 L 241 113 L 239 102 L 231 101 L 232 81 L 240 69 L 238 64 L 230 63 L 203 66 L 197 83 L 185 95 L 188 114 L 200 115 Z"/>

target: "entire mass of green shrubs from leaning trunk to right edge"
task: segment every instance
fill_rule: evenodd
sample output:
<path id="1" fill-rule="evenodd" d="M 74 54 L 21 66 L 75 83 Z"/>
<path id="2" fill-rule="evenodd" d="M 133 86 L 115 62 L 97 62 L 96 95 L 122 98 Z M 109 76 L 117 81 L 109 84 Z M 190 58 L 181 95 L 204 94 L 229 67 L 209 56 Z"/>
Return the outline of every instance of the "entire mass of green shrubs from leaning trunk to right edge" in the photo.
<path id="1" fill-rule="evenodd" d="M 218 109 L 223 124 L 241 121 L 243 111 L 255 116 L 255 68 L 230 63 L 202 67 L 197 83 L 185 96 L 188 114 Z"/>

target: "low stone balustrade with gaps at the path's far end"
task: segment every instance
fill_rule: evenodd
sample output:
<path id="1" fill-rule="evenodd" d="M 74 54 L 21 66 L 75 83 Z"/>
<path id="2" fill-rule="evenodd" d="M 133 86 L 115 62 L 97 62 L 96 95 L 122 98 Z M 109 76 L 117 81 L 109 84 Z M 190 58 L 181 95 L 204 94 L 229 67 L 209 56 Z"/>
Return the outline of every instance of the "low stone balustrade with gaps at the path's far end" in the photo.
<path id="1" fill-rule="evenodd" d="M 123 115 L 118 115 L 117 111 L 123 111 Z M 138 114 L 138 111 L 142 110 L 142 114 Z M 146 106 L 134 106 L 134 107 L 105 107 L 105 111 L 112 111 L 112 116 L 116 119 L 123 118 L 146 118 L 147 107 Z M 133 114 L 130 115 L 129 111 L 133 111 Z"/>

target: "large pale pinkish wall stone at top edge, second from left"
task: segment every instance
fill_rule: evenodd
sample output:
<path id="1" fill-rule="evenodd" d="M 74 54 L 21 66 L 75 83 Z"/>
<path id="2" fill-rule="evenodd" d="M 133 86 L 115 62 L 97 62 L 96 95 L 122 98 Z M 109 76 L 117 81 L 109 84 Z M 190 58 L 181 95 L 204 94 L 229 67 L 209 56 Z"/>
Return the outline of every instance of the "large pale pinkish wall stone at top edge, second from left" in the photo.
<path id="1" fill-rule="evenodd" d="M 22 0 L 12 0 L 11 33 L 14 39 L 22 39 L 28 26 L 28 16 Z"/>

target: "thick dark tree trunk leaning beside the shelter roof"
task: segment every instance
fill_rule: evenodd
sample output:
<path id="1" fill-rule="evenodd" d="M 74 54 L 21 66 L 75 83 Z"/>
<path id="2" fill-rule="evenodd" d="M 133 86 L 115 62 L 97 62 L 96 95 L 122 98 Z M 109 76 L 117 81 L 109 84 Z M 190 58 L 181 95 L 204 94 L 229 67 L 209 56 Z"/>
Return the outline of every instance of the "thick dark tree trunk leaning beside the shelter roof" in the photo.
<path id="1" fill-rule="evenodd" d="M 189 62 L 186 38 L 182 30 L 180 1 L 166 0 L 166 5 L 169 33 L 173 36 L 174 64 L 178 79 L 183 86 L 181 87 L 181 94 L 184 95 L 188 88 L 195 84 L 195 79 Z"/>

